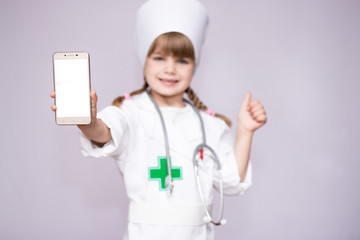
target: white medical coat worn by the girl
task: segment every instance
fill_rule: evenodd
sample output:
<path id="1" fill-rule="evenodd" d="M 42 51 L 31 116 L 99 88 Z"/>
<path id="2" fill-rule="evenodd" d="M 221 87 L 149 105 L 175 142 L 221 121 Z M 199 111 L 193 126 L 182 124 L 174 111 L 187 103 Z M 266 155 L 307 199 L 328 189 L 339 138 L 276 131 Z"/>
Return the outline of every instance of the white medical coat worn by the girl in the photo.
<path id="1" fill-rule="evenodd" d="M 202 206 L 193 168 L 193 152 L 202 143 L 199 118 L 191 106 L 161 107 L 169 138 L 171 166 L 181 169 L 181 177 L 174 180 L 172 196 L 161 189 L 160 179 L 150 179 L 150 170 L 159 167 L 166 156 L 164 133 L 159 115 L 144 92 L 123 102 L 120 108 L 106 107 L 98 113 L 109 128 L 112 140 L 97 147 L 82 133 L 82 154 L 92 157 L 112 156 L 122 173 L 131 202 L 162 206 Z M 240 183 L 234 157 L 234 142 L 225 122 L 201 112 L 206 141 L 222 163 L 224 194 L 242 194 L 251 185 L 251 164 L 244 182 Z M 206 203 L 211 205 L 212 188 L 218 189 L 218 174 L 214 162 L 207 158 L 199 162 L 201 185 Z M 176 216 L 173 216 L 176 218 Z M 214 239 L 211 224 L 172 225 L 128 222 L 125 240 L 210 240 Z"/>

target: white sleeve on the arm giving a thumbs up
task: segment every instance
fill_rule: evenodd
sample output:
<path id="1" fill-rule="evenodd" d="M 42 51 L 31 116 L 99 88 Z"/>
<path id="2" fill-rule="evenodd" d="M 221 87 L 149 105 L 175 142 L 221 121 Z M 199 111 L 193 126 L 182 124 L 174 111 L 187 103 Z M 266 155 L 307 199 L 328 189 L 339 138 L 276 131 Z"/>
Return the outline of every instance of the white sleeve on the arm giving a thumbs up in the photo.
<path id="1" fill-rule="evenodd" d="M 223 179 L 223 189 L 225 195 L 240 195 L 252 184 L 252 166 L 248 164 L 246 176 L 240 182 L 239 167 L 234 155 L 234 140 L 230 129 L 226 126 L 221 134 L 218 144 L 217 154 L 221 162 L 221 175 Z M 219 177 L 217 171 L 214 174 L 214 186 L 219 190 Z"/>

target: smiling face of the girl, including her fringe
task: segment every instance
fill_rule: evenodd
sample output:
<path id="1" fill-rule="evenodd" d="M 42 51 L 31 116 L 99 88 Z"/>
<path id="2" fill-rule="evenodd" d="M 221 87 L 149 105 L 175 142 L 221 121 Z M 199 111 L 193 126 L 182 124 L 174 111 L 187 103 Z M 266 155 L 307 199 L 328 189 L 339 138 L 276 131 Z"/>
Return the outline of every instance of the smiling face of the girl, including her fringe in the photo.
<path id="1" fill-rule="evenodd" d="M 150 47 L 144 76 L 159 106 L 184 106 L 182 96 L 195 68 L 191 41 L 181 33 L 166 33 Z"/>

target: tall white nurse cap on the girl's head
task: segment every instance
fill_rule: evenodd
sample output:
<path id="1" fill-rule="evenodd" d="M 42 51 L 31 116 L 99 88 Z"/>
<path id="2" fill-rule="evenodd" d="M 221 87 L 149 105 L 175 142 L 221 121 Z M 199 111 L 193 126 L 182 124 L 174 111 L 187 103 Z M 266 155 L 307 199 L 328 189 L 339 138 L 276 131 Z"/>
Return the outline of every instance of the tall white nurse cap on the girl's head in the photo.
<path id="1" fill-rule="evenodd" d="M 136 19 L 136 49 L 141 66 L 145 65 L 152 42 L 166 32 L 180 32 L 191 40 L 197 65 L 207 24 L 206 10 L 198 0 L 146 1 Z"/>

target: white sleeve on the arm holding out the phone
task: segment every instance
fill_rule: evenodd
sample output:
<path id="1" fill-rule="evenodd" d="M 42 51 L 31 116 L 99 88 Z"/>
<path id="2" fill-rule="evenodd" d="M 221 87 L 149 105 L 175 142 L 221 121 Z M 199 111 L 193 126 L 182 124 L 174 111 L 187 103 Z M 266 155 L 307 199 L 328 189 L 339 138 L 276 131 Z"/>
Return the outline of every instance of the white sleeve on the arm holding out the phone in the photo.
<path id="1" fill-rule="evenodd" d="M 97 118 L 101 119 L 110 129 L 112 139 L 104 146 L 99 147 L 80 132 L 82 155 L 85 157 L 118 157 L 126 154 L 130 131 L 123 111 L 118 107 L 109 106 L 99 112 Z"/>

